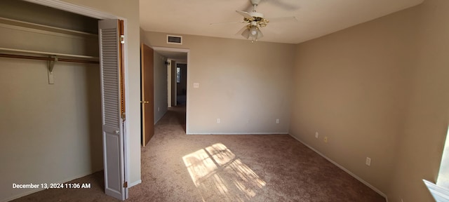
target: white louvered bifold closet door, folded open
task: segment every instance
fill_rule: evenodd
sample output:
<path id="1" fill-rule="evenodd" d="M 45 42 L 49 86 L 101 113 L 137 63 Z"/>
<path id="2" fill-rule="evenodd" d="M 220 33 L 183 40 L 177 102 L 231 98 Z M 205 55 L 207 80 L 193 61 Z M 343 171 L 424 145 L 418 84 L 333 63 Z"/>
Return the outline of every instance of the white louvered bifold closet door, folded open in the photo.
<path id="1" fill-rule="evenodd" d="M 100 20 L 98 28 L 105 192 L 109 196 L 124 200 L 128 194 L 127 189 L 123 187 L 125 155 L 121 120 L 119 20 Z"/>

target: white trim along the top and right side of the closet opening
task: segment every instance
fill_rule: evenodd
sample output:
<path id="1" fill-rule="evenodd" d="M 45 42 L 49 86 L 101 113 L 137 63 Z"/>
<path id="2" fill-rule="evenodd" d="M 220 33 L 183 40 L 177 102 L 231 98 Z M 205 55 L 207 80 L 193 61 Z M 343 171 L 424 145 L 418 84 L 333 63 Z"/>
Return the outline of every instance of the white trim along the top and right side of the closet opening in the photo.
<path id="1" fill-rule="evenodd" d="M 91 18 L 96 18 L 98 20 L 107 20 L 107 19 L 119 19 L 119 20 L 123 20 L 123 24 L 124 24 L 124 35 L 128 36 L 128 29 L 127 29 L 127 25 L 128 25 L 128 21 L 126 18 L 122 18 L 120 16 L 116 16 L 116 15 L 112 15 L 110 13 L 105 13 L 102 11 L 97 11 L 93 8 L 87 8 L 84 6 L 78 6 L 75 4 L 70 4 L 68 2 L 65 1 L 60 1 L 60 0 L 25 0 L 28 2 L 31 2 L 33 4 L 40 4 L 43 6 L 48 6 L 51 8 L 56 8 L 62 11 L 68 11 L 71 13 L 76 13 L 79 15 L 85 15 Z M 125 44 L 123 44 L 123 66 L 125 69 L 125 75 L 129 75 L 128 74 L 128 37 L 125 37 Z M 128 95 L 128 79 L 125 77 L 125 100 L 129 100 L 129 95 Z M 125 102 L 125 109 L 129 109 L 129 102 Z M 126 110 L 126 117 L 129 116 L 129 111 Z M 126 173 L 125 173 L 125 177 L 126 179 L 129 179 L 130 173 L 129 173 L 129 168 L 130 168 L 130 164 L 129 164 L 129 159 L 130 159 L 130 147 L 129 147 L 129 121 L 125 121 L 125 127 L 123 128 L 123 133 L 125 133 L 125 138 L 124 138 L 124 149 L 125 149 L 125 167 L 126 167 Z M 129 188 L 129 184 L 128 184 L 128 188 Z"/>

